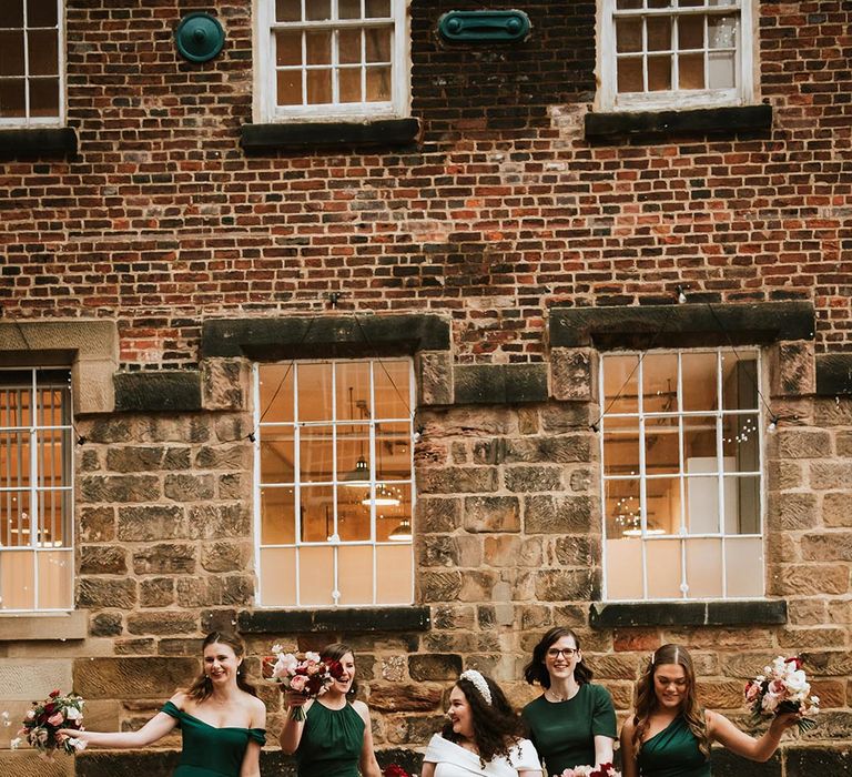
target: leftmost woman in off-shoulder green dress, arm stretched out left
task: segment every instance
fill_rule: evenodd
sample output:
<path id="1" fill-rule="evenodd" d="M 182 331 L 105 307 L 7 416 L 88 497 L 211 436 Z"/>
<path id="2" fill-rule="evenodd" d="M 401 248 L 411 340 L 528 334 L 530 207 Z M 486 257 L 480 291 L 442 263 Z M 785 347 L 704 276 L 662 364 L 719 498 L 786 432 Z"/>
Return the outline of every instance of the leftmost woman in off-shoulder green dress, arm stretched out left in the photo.
<path id="1" fill-rule="evenodd" d="M 266 707 L 245 679 L 245 647 L 232 634 L 204 638 L 203 672 L 138 731 L 63 730 L 95 747 L 144 747 L 179 727 L 183 738 L 174 777 L 261 777 Z"/>

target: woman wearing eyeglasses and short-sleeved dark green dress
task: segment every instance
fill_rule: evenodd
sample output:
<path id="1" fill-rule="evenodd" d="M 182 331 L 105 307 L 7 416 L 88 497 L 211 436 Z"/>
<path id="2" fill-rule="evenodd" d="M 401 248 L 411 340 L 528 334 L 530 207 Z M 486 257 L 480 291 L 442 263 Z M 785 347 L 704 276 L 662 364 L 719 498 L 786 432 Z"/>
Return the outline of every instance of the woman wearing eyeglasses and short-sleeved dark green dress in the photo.
<path id="1" fill-rule="evenodd" d="M 532 648 L 524 678 L 544 693 L 521 715 L 549 775 L 612 763 L 616 709 L 609 692 L 591 677 L 570 628 L 551 628 Z"/>

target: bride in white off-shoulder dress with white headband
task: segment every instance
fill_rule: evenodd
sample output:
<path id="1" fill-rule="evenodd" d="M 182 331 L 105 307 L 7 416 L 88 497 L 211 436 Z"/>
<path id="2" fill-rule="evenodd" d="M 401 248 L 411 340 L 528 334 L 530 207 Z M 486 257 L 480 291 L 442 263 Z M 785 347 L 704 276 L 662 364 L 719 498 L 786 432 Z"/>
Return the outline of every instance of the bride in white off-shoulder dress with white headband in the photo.
<path id="1" fill-rule="evenodd" d="M 538 753 L 521 737 L 520 716 L 489 677 L 463 672 L 447 717 L 426 748 L 420 777 L 541 777 Z"/>

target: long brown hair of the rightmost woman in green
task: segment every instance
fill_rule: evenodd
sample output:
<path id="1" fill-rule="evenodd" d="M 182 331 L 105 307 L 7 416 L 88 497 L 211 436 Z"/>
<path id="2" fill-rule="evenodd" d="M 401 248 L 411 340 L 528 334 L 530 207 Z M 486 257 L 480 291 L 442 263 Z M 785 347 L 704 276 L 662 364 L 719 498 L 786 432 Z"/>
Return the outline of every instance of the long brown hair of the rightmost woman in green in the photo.
<path id="1" fill-rule="evenodd" d="M 698 703 L 696 694 L 696 668 L 692 657 L 686 647 L 681 645 L 663 645 L 657 648 L 651 656 L 648 667 L 636 684 L 636 712 L 633 714 L 633 754 L 639 755 L 642 749 L 642 737 L 648 730 L 651 715 L 657 710 L 657 694 L 653 690 L 653 677 L 657 668 L 663 664 L 679 664 L 687 676 L 687 695 L 683 699 L 680 714 L 689 726 L 696 739 L 698 749 L 704 758 L 710 757 L 710 737 L 707 734 L 707 718 L 704 709 Z"/>

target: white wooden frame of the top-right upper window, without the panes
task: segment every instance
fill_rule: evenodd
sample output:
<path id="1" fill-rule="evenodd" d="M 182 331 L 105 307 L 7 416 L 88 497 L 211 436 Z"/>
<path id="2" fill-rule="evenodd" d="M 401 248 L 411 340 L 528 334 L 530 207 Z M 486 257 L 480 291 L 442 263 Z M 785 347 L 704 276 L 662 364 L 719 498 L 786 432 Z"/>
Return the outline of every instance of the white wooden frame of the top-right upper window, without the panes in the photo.
<path id="1" fill-rule="evenodd" d="M 677 0 L 671 0 L 674 3 Z M 646 111 L 677 110 L 690 108 L 714 108 L 721 105 L 748 105 L 754 102 L 754 67 L 757 47 L 757 26 L 753 9 L 754 0 L 727 0 L 727 4 L 709 7 L 684 7 L 617 11 L 616 0 L 601 0 L 598 6 L 598 75 L 599 89 L 596 108 L 601 111 Z M 616 63 L 616 19 L 627 16 L 674 17 L 687 14 L 730 14 L 739 7 L 740 23 L 737 30 L 737 56 L 734 58 L 733 89 L 701 89 L 658 92 L 618 93 L 618 71 Z M 677 49 L 672 30 L 672 50 Z M 677 62 L 677 58 L 674 58 Z M 643 69 L 647 70 L 647 59 Z M 672 67 L 672 84 L 677 83 L 677 65 Z M 707 83 L 707 71 L 704 83 Z"/>

